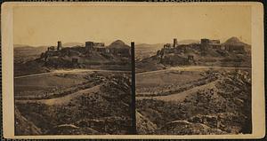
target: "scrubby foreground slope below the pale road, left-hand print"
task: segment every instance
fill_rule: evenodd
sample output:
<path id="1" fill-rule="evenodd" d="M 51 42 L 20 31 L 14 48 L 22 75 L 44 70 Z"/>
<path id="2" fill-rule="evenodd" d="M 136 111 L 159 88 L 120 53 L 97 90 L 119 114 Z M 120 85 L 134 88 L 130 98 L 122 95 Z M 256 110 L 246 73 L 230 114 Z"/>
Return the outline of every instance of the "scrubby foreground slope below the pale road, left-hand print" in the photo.
<path id="1" fill-rule="evenodd" d="M 15 134 L 130 134 L 130 77 L 91 72 L 20 78 L 15 88 Z"/>

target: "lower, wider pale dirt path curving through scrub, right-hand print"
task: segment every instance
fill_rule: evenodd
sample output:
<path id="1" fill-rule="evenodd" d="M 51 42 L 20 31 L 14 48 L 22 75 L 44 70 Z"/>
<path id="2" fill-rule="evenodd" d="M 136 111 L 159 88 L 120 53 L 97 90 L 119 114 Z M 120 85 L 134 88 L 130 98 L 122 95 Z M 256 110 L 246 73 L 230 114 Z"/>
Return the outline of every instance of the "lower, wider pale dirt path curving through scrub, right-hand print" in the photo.
<path id="1" fill-rule="evenodd" d="M 174 93 L 168 96 L 157 96 L 157 97 L 136 97 L 136 99 L 158 99 L 163 101 L 183 101 L 187 96 L 190 96 L 193 93 L 196 93 L 198 90 L 204 90 L 209 88 L 214 88 L 215 82 L 218 82 L 218 80 L 214 82 L 209 82 L 201 86 L 194 87 L 190 90 L 185 90 L 180 93 Z"/>

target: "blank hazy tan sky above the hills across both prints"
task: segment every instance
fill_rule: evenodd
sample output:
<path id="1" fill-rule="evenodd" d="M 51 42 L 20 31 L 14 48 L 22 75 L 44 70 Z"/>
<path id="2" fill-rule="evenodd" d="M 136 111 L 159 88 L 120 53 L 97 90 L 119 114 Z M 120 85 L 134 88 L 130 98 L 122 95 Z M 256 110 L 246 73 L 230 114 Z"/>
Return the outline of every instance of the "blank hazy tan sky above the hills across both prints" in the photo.
<path id="1" fill-rule="evenodd" d="M 249 6 L 14 7 L 14 43 L 172 43 L 203 37 L 251 43 Z"/>

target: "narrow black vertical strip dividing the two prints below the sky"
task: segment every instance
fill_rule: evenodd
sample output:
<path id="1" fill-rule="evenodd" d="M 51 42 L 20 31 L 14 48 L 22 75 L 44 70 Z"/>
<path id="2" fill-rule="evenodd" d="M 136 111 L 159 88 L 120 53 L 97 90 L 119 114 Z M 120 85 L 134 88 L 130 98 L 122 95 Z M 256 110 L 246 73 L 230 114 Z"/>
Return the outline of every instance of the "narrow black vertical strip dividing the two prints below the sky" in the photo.
<path id="1" fill-rule="evenodd" d="M 132 57 L 132 118 L 133 130 L 132 134 L 136 134 L 136 116 L 135 116 L 135 60 L 134 60 L 134 42 L 131 43 L 131 57 Z"/>

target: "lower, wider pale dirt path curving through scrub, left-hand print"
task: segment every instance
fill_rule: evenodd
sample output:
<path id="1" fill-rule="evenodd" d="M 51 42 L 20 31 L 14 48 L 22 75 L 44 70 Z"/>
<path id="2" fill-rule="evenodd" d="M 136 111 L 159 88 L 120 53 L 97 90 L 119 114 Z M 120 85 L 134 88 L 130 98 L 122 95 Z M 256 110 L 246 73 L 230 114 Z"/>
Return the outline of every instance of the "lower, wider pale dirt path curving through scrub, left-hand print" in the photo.
<path id="1" fill-rule="evenodd" d="M 50 99 L 40 99 L 40 100 L 16 100 L 16 102 L 19 103 L 27 103 L 27 102 L 40 102 L 44 103 L 48 106 L 53 105 L 64 105 L 68 104 L 70 99 L 77 98 L 78 96 L 82 96 L 85 93 L 90 94 L 93 92 L 97 92 L 100 90 L 101 85 L 93 86 L 92 88 L 85 89 L 85 90 L 78 90 L 77 92 L 74 92 L 72 94 L 60 97 L 60 98 L 50 98 Z"/>

